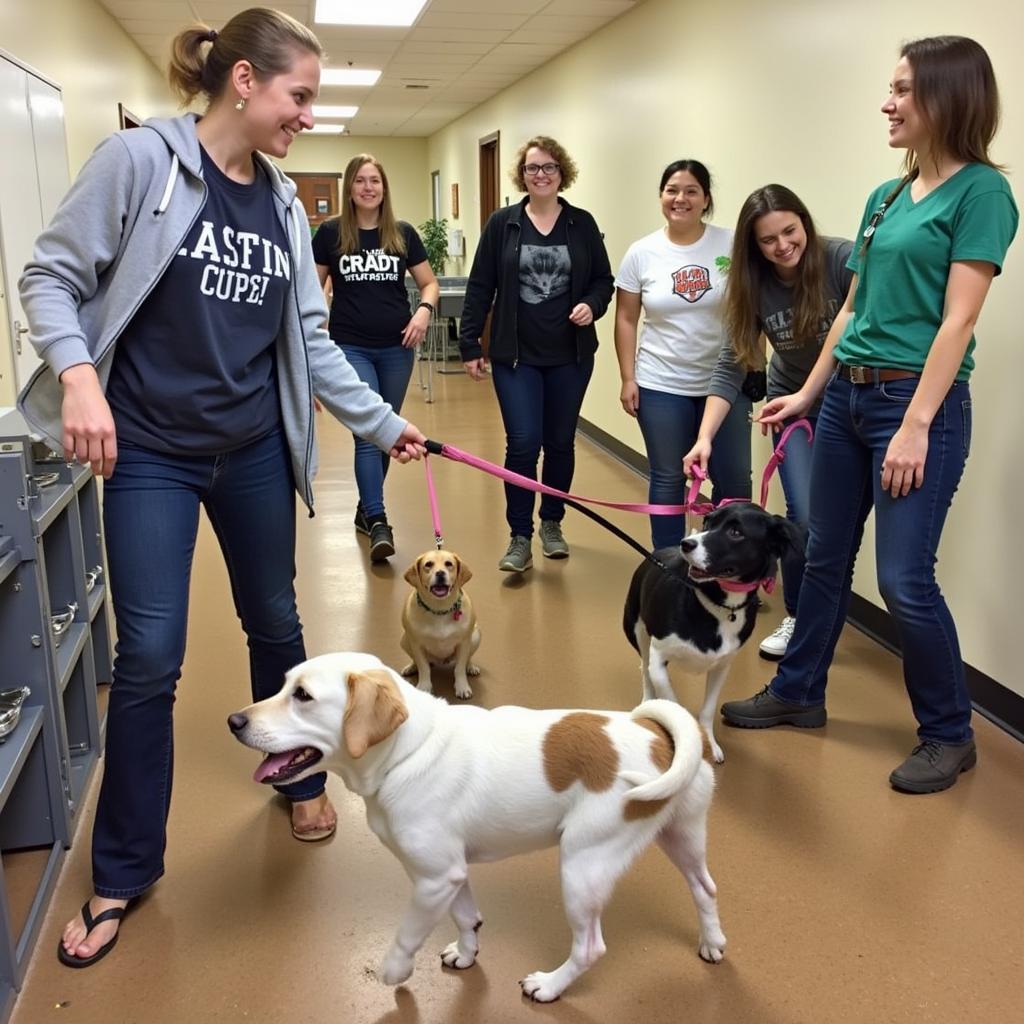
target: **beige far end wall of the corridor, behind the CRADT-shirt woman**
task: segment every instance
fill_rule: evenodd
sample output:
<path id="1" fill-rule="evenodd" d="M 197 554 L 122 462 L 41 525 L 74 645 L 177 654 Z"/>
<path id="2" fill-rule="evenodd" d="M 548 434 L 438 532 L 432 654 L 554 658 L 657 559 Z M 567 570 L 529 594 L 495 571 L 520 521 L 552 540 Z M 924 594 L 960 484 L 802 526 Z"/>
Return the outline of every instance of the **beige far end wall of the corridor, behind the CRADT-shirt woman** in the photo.
<path id="1" fill-rule="evenodd" d="M 373 154 L 384 165 L 395 216 L 414 226 L 423 223 L 430 216 L 430 174 L 424 138 L 300 135 L 278 165 L 286 174 L 293 171 L 335 173 L 340 179 L 345 164 L 360 153 Z M 341 187 L 340 180 L 338 187 Z"/>

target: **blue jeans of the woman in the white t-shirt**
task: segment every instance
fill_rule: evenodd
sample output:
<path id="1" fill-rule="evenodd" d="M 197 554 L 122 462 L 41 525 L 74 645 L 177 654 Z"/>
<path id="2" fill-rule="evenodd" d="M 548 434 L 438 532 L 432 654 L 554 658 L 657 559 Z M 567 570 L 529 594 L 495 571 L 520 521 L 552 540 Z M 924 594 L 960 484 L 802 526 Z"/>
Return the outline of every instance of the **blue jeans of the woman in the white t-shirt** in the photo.
<path id="1" fill-rule="evenodd" d="M 687 480 L 683 476 L 683 456 L 697 439 L 706 397 L 670 394 L 640 388 L 637 420 L 647 447 L 650 464 L 648 501 L 651 505 L 682 505 Z M 751 399 L 739 394 L 715 436 L 708 471 L 712 479 L 712 501 L 751 497 Z M 651 540 L 654 550 L 674 548 L 686 532 L 686 516 L 652 515 Z"/>

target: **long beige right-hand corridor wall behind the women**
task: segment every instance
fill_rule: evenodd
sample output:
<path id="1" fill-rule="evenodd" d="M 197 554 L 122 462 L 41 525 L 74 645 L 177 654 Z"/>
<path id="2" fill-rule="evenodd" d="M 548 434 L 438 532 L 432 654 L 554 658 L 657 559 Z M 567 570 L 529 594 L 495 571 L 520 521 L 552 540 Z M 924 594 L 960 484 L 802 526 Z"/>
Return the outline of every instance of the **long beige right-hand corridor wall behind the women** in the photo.
<path id="1" fill-rule="evenodd" d="M 660 169 L 684 156 L 711 167 L 721 224 L 733 222 L 753 188 L 781 181 L 803 197 L 823 231 L 849 237 L 868 191 L 898 169 L 879 106 L 899 44 L 942 33 L 974 36 L 988 49 L 1004 97 L 996 158 L 1024 167 L 1024 13 L 1001 0 L 864 0 L 855 10 L 820 0 L 647 0 L 432 136 L 427 162 L 441 169 L 445 197 L 453 181 L 461 185 L 459 223 L 469 253 L 479 234 L 477 141 L 496 130 L 503 166 L 536 132 L 569 148 L 581 175 L 568 198 L 595 214 L 613 265 L 660 223 Z M 514 202 L 511 185 L 507 190 Z M 1024 202 L 1019 188 L 1018 198 Z M 1016 372 L 1022 291 L 1018 239 L 978 327 L 974 455 L 940 557 L 966 658 L 1020 693 L 1019 627 L 1007 595 L 1024 570 L 1024 545 L 1012 540 L 1024 514 L 1016 459 L 1024 436 Z M 611 326 L 609 312 L 583 415 L 642 451 L 618 407 Z M 763 463 L 759 451 L 756 465 Z M 872 549 L 869 523 L 856 589 L 881 603 Z"/>

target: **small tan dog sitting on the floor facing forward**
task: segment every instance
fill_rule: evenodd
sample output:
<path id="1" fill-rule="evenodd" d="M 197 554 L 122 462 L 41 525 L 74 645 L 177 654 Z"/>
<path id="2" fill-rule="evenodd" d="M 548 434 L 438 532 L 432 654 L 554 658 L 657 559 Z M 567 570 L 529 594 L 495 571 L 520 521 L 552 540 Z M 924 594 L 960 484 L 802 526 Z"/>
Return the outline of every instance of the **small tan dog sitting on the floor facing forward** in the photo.
<path id="1" fill-rule="evenodd" d="M 463 590 L 473 573 L 453 551 L 425 551 L 406 570 L 413 593 L 401 611 L 401 649 L 413 659 L 403 676 L 419 676 L 421 690 L 431 692 L 431 666 L 455 670 L 455 695 L 468 700 L 468 676 L 480 670 L 471 658 L 480 646 L 480 631 L 469 595 Z"/>

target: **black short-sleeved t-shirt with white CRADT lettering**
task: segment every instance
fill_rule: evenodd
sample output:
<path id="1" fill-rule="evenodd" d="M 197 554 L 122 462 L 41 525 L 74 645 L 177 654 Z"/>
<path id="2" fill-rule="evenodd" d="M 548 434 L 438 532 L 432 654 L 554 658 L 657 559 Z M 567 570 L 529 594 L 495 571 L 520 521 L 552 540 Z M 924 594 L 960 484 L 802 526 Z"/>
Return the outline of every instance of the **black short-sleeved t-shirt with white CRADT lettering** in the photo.
<path id="1" fill-rule="evenodd" d="M 376 227 L 359 229 L 358 252 L 339 253 L 339 227 L 337 218 L 326 220 L 313 236 L 313 259 L 331 274 L 331 337 L 340 345 L 365 348 L 400 345 L 412 315 L 406 268 L 426 261 L 423 242 L 412 224 L 399 220 L 404 256 L 384 252 Z"/>

